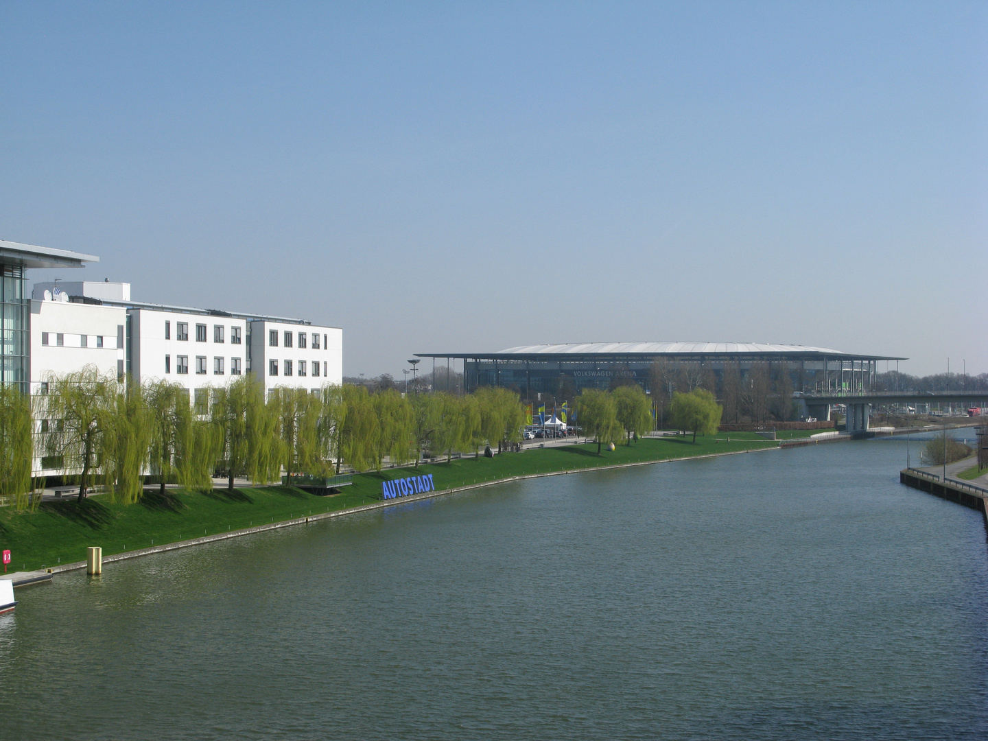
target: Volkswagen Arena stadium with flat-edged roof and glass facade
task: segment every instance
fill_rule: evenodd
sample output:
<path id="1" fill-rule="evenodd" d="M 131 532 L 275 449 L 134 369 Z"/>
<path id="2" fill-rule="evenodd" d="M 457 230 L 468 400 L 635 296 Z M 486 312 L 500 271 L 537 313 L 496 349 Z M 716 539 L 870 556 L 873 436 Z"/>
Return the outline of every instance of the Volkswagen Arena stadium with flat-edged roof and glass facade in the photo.
<path id="1" fill-rule="evenodd" d="M 526 345 L 496 353 L 416 356 L 462 363 L 467 391 L 504 386 L 516 388 L 529 398 L 537 393 L 556 393 L 563 380 L 579 392 L 583 388 L 608 388 L 623 377 L 650 391 L 652 365 L 656 363 L 674 369 L 712 371 L 718 381 L 731 365 L 743 378 L 754 366 L 766 364 L 771 371 L 787 371 L 795 391 L 865 391 L 874 387 L 878 361 L 905 360 L 801 345 L 682 342 Z"/>

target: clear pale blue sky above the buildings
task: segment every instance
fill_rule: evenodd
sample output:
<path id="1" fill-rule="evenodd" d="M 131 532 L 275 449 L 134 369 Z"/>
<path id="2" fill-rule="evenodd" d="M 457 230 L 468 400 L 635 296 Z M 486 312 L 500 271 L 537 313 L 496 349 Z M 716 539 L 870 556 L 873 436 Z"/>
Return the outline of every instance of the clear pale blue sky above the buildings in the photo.
<path id="1" fill-rule="evenodd" d="M 5 2 L 0 48 L 0 239 L 100 257 L 37 281 L 339 326 L 347 375 L 988 371 L 988 3 Z"/>

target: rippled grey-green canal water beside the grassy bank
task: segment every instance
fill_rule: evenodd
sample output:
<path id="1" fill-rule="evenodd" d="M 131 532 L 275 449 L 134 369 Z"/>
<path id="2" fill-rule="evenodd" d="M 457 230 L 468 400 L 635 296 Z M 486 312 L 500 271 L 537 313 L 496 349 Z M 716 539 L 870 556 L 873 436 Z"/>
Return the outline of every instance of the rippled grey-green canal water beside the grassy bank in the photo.
<path id="1" fill-rule="evenodd" d="M 0 617 L 0 738 L 981 739 L 981 515 L 904 460 L 544 478 L 59 577 Z"/>

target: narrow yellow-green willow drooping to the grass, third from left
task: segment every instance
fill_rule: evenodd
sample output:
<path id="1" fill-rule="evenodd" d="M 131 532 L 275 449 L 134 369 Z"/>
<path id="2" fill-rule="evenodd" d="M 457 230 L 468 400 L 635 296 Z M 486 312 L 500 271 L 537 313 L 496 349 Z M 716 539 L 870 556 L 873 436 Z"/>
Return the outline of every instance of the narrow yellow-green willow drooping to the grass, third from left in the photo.
<path id="1" fill-rule="evenodd" d="M 118 391 L 106 441 L 107 491 L 112 501 L 133 504 L 144 492 L 151 443 L 151 417 L 139 384 L 127 383 Z"/>

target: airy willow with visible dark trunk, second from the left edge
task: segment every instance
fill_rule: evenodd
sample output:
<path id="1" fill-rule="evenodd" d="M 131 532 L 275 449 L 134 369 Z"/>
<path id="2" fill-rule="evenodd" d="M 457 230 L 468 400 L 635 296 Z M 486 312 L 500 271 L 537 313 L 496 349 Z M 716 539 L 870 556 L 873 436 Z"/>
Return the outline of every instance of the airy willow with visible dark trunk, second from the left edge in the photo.
<path id="1" fill-rule="evenodd" d="M 79 501 L 93 478 L 106 471 L 114 444 L 119 383 L 116 376 L 100 375 L 95 366 L 51 376 L 48 392 L 41 398 L 48 418 L 42 445 L 49 456 L 60 461 L 66 474 L 79 476 Z"/>

